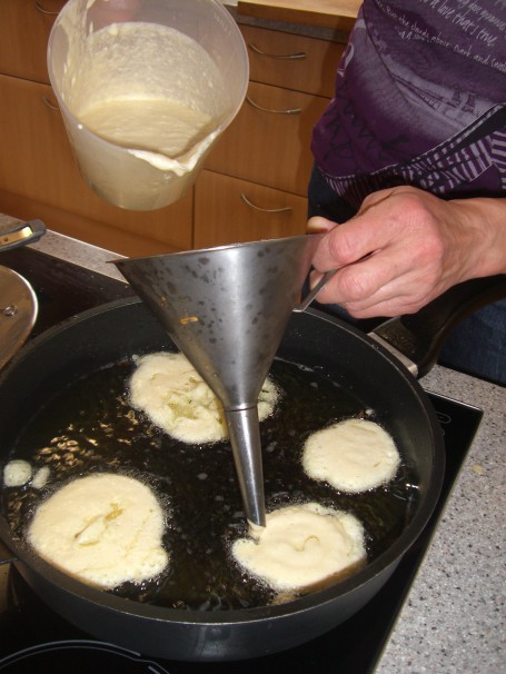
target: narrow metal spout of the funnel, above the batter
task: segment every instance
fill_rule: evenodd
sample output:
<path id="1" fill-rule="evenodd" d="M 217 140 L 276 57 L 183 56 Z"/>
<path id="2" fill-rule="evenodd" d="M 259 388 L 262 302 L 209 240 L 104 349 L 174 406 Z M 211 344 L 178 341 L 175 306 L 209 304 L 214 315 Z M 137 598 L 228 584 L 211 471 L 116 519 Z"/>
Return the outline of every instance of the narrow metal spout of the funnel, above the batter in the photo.
<path id="1" fill-rule="evenodd" d="M 246 517 L 252 524 L 266 526 L 264 470 L 257 406 L 254 405 L 244 409 L 226 409 L 225 416 Z"/>

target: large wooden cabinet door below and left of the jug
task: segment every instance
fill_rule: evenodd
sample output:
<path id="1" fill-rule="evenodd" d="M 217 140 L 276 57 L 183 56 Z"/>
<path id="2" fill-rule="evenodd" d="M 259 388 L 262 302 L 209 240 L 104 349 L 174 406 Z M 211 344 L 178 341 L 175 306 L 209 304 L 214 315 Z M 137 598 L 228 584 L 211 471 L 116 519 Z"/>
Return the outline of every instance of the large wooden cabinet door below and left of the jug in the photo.
<path id="1" fill-rule="evenodd" d="M 191 190 L 178 202 L 153 211 L 111 206 L 81 178 L 48 85 L 0 76 L 0 100 L 1 191 L 153 239 L 168 249 L 191 248 Z"/>

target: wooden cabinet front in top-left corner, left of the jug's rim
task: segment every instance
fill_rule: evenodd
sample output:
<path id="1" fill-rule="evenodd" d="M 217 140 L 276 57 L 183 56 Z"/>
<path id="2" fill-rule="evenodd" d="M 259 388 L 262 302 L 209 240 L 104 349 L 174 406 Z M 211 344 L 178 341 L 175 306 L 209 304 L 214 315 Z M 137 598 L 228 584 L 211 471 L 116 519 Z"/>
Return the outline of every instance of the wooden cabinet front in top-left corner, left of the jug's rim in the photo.
<path id="1" fill-rule="evenodd" d="M 0 0 L 0 72 L 49 82 L 47 49 L 65 0 Z"/>

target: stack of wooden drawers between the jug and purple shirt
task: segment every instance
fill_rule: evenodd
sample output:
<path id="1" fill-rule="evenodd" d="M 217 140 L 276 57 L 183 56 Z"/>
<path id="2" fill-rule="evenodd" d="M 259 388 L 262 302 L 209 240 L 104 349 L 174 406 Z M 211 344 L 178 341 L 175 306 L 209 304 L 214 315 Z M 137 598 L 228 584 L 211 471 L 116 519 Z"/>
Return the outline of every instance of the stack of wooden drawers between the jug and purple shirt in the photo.
<path id="1" fill-rule="evenodd" d="M 345 48 L 240 28 L 250 61 L 248 93 L 197 180 L 196 247 L 304 234 L 312 127 L 333 95 Z M 248 206 L 240 194 L 252 195 L 250 204 L 258 207 Z"/>

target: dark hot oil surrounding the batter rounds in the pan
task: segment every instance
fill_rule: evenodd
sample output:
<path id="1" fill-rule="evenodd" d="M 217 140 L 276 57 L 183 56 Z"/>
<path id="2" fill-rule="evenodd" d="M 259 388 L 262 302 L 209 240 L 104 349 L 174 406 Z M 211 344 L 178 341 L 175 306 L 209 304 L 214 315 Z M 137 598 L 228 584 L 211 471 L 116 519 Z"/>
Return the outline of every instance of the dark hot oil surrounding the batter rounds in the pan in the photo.
<path id="1" fill-rule="evenodd" d="M 40 490 L 6 490 L 13 535 L 23 537 L 37 505 L 61 484 L 97 470 L 131 475 L 155 489 L 167 512 L 170 563 L 156 581 L 125 584 L 116 594 L 202 611 L 271 603 L 272 593 L 241 573 L 229 556 L 230 543 L 246 534 L 229 444 L 185 445 L 153 427 L 129 405 L 133 367 L 122 361 L 78 380 L 23 429 L 11 458 L 26 458 L 36 469 L 48 466 L 51 477 Z M 300 464 L 306 438 L 334 422 L 364 414 L 364 405 L 308 368 L 276 360 L 270 376 L 280 396 L 275 414 L 261 423 L 267 509 L 316 500 L 351 512 L 365 527 L 371 561 L 409 521 L 415 476 L 403 464 L 387 487 L 359 495 L 309 479 Z"/>

